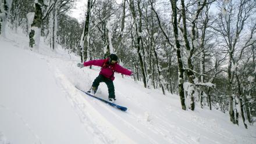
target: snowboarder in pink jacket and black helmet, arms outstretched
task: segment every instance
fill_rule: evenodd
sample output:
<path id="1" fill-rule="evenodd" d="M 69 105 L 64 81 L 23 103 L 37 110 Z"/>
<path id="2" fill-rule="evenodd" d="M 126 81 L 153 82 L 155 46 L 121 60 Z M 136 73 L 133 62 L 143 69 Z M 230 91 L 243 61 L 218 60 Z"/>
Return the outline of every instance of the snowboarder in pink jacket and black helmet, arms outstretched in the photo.
<path id="1" fill-rule="evenodd" d="M 85 66 L 100 66 L 101 71 L 97 78 L 95 78 L 91 89 L 88 93 L 95 94 L 99 87 L 100 82 L 105 82 L 108 87 L 108 100 L 110 102 L 115 102 L 115 87 L 113 85 L 113 80 L 115 79 L 114 73 L 121 73 L 125 75 L 133 75 L 130 70 L 127 70 L 118 64 L 118 56 L 115 54 L 109 55 L 106 59 L 99 59 L 99 60 L 90 60 L 84 63 L 78 63 L 77 66 L 83 68 Z"/>

